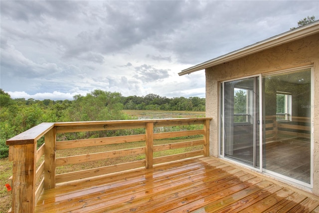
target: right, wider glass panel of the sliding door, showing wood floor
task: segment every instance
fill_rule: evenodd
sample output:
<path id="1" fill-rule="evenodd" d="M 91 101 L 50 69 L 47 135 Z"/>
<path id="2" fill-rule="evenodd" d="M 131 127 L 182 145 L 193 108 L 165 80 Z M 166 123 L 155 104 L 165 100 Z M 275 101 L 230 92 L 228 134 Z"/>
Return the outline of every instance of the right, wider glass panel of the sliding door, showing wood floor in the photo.
<path id="1" fill-rule="evenodd" d="M 311 183 L 311 69 L 263 76 L 263 168 Z"/>

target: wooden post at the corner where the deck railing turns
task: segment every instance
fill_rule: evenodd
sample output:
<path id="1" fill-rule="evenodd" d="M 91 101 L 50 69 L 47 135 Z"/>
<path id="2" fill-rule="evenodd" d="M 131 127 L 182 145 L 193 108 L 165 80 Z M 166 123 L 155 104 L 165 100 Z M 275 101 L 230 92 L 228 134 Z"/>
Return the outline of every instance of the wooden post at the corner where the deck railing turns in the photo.
<path id="1" fill-rule="evenodd" d="M 55 187 L 55 141 L 56 128 L 52 128 L 44 135 L 44 189 Z"/>

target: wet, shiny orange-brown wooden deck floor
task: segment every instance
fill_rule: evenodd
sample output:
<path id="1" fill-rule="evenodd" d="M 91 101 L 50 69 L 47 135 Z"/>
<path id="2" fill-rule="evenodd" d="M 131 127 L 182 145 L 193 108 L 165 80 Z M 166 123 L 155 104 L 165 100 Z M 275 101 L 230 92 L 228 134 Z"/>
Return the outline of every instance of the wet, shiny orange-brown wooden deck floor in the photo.
<path id="1" fill-rule="evenodd" d="M 319 213 L 319 199 L 201 157 L 58 184 L 42 192 L 35 212 Z"/>

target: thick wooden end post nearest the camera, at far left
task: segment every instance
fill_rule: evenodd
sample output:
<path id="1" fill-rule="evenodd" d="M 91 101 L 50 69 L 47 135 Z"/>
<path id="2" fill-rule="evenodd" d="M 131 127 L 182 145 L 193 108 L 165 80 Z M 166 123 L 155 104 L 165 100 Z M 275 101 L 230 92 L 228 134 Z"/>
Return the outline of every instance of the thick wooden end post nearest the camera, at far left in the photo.
<path id="1" fill-rule="evenodd" d="M 35 205 L 36 140 L 7 140 L 11 147 L 12 213 L 33 213 Z"/>

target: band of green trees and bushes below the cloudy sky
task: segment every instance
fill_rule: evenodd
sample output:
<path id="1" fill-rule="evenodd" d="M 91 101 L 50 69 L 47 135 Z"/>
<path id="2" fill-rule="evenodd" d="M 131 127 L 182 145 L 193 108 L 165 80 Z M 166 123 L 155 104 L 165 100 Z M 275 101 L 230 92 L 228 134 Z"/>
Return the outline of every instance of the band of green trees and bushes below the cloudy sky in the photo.
<path id="1" fill-rule="evenodd" d="M 73 100 L 12 99 L 0 89 L 0 158 L 7 157 L 5 141 L 42 122 L 128 120 L 122 110 L 205 111 L 205 98 L 124 97 L 119 92 L 94 90 Z"/>

